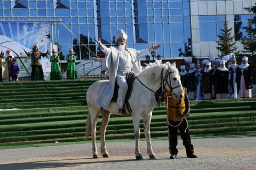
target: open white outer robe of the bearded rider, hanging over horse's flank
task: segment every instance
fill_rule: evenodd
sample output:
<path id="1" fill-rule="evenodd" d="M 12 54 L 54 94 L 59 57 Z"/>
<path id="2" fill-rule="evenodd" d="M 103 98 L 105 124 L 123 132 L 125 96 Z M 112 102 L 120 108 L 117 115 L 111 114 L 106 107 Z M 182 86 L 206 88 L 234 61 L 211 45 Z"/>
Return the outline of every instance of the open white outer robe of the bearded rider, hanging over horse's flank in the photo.
<path id="1" fill-rule="evenodd" d="M 100 105 L 103 109 L 109 107 L 109 103 L 114 94 L 115 87 L 115 78 L 117 77 L 118 64 L 119 64 L 119 49 L 118 46 L 110 46 L 107 48 L 105 45 L 100 47 L 101 51 L 106 54 L 104 60 L 103 70 L 109 71 L 109 82 L 105 84 L 102 88 L 100 95 L 97 97 L 96 103 Z M 138 74 L 142 71 L 141 60 L 139 57 L 146 56 L 152 52 L 152 48 L 136 50 L 133 48 L 127 48 L 128 52 L 131 55 L 133 63 L 133 71 L 135 74 Z"/>

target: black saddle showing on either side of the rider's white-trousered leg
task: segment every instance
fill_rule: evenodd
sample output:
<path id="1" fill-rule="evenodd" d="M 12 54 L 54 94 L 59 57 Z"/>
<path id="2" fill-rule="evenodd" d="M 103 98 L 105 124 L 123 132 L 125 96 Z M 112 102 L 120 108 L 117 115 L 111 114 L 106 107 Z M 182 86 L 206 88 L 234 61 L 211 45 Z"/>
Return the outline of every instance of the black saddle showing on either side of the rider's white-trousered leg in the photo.
<path id="1" fill-rule="evenodd" d="M 135 74 L 133 72 L 130 72 L 129 74 L 127 74 L 127 76 L 126 76 L 126 83 L 128 85 L 128 90 L 126 92 L 125 102 L 123 103 L 123 106 L 126 105 L 128 111 L 130 113 L 131 113 L 131 107 L 130 107 L 130 104 L 129 104 L 128 100 L 131 97 L 131 92 L 133 92 L 133 81 L 134 81 L 134 79 L 135 79 Z M 113 94 L 113 97 L 112 97 L 110 102 L 112 102 L 112 103 L 116 103 L 117 102 L 118 89 L 119 89 L 119 86 L 118 86 L 117 83 L 115 83 L 114 94 Z"/>

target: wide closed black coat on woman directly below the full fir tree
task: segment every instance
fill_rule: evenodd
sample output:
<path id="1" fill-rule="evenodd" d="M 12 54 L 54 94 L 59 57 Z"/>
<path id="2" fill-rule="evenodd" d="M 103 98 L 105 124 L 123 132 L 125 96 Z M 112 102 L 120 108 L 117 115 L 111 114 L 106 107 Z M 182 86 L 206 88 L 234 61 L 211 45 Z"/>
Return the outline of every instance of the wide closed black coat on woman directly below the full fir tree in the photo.
<path id="1" fill-rule="evenodd" d="M 216 69 L 214 76 L 216 80 L 216 94 L 229 94 L 229 71 Z"/>

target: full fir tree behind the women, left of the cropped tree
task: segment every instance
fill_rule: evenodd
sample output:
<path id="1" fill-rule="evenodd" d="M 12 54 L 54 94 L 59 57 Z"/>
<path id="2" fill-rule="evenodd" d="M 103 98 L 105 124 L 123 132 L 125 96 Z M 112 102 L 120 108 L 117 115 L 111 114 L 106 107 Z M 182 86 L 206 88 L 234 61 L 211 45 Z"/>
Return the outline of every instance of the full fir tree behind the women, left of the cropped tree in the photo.
<path id="1" fill-rule="evenodd" d="M 230 53 L 234 53 L 237 50 L 236 41 L 234 41 L 234 36 L 231 36 L 232 28 L 228 28 L 228 21 L 225 20 L 224 28 L 221 29 L 221 35 L 217 35 L 218 41 L 216 48 L 220 50 L 221 56 L 226 56 Z"/>

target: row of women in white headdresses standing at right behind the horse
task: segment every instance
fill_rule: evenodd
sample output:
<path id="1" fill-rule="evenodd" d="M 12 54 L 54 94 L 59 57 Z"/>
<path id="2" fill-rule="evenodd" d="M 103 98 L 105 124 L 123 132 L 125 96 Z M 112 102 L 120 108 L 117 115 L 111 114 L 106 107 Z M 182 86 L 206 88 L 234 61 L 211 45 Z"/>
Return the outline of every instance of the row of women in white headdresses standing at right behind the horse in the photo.
<path id="1" fill-rule="evenodd" d="M 188 70 L 185 65 L 180 66 L 181 82 L 188 88 L 190 100 L 252 97 L 253 75 L 248 57 L 244 56 L 240 65 L 233 53 L 222 58 L 211 55 L 202 63 L 201 67 L 197 59 Z"/>

